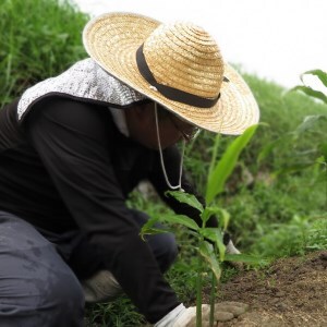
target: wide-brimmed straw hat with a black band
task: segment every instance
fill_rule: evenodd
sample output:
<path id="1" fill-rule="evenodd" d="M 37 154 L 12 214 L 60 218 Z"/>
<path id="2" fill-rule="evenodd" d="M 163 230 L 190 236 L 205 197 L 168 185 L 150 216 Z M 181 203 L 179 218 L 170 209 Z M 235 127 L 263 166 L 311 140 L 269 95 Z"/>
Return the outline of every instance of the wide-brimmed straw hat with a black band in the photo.
<path id="1" fill-rule="evenodd" d="M 109 74 L 202 129 L 237 135 L 258 121 L 246 83 L 192 23 L 108 13 L 88 22 L 83 43 Z"/>

